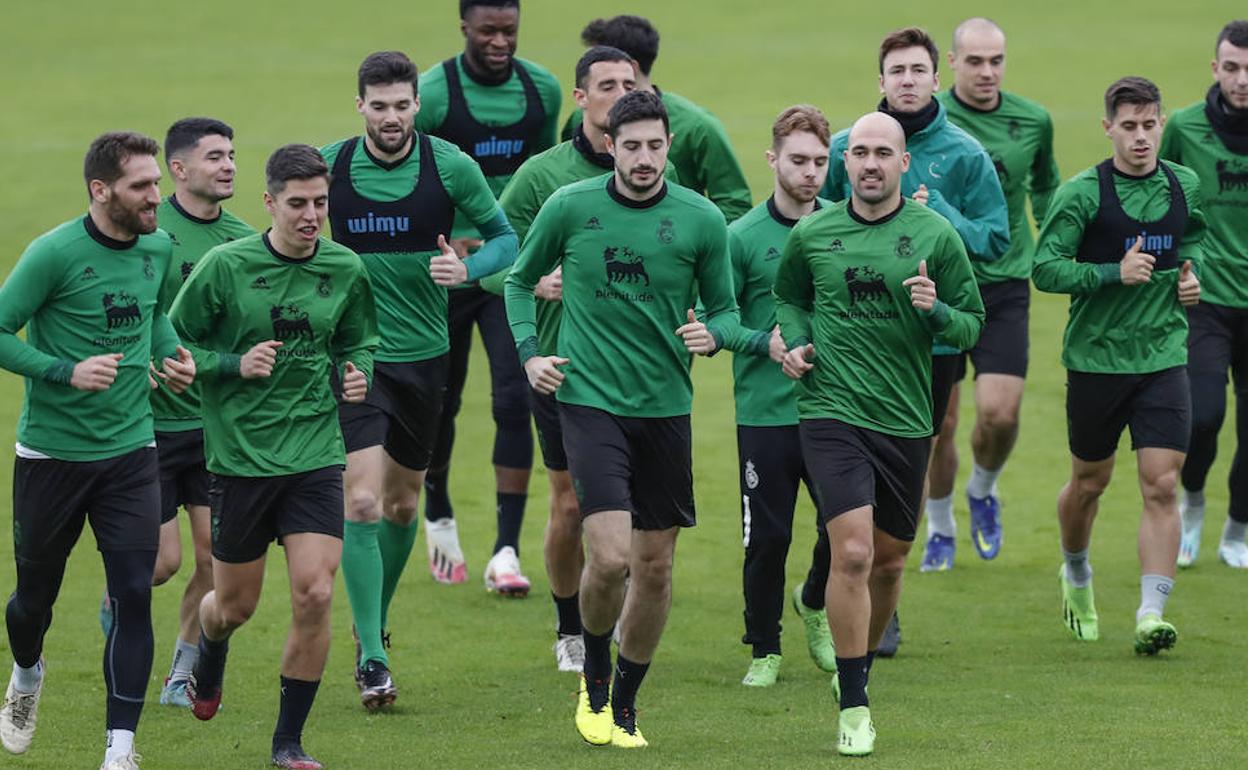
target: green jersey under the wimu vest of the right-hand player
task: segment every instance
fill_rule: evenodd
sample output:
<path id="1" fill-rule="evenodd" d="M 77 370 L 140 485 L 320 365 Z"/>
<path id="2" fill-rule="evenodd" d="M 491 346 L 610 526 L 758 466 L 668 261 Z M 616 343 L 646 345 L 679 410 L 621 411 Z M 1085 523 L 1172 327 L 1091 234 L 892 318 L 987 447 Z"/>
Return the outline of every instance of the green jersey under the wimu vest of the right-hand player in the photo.
<path id="1" fill-rule="evenodd" d="M 1191 168 L 1169 165 L 1183 188 L 1188 220 L 1178 246 L 1179 260 L 1201 261 L 1204 215 L 1199 180 Z M 1156 221 L 1171 207 L 1171 188 L 1158 166 L 1151 175 L 1113 172 L 1123 212 L 1138 221 Z M 1148 283 L 1123 286 L 1123 253 L 1113 261 L 1078 262 L 1085 231 L 1101 207 L 1093 166 L 1058 187 L 1040 230 L 1032 281 L 1043 292 L 1071 295 L 1071 313 L 1062 341 L 1062 364 L 1076 372 L 1143 374 L 1187 363 L 1187 313 L 1178 302 L 1179 268 L 1157 270 Z M 1109 257 L 1107 256 L 1107 258 Z"/>

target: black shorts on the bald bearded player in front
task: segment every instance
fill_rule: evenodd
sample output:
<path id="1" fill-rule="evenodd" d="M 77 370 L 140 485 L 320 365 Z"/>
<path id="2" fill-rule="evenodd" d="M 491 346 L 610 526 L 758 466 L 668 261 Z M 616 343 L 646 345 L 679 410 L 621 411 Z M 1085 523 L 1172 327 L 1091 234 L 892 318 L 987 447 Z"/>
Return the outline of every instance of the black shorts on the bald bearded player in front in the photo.
<path id="1" fill-rule="evenodd" d="M 799 428 L 824 524 L 871 505 L 877 529 L 915 539 L 930 438 L 899 438 L 839 419 L 804 419 Z"/>

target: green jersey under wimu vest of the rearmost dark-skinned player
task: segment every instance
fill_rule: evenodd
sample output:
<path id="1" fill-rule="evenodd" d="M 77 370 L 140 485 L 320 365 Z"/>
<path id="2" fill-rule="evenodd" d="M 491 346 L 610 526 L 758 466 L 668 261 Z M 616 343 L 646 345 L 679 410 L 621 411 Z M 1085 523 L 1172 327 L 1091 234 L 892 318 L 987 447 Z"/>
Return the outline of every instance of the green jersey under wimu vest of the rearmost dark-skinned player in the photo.
<path id="1" fill-rule="evenodd" d="M 553 147 L 559 141 L 559 109 L 563 105 L 563 90 L 559 86 L 559 79 L 542 65 L 519 56 L 515 60 L 533 79 L 533 85 L 545 111 L 540 134 L 527 147 L 532 156 Z M 459 72 L 459 82 L 463 87 L 464 101 L 468 104 L 468 111 L 478 122 L 485 126 L 507 126 L 524 116 L 527 107 L 524 85 L 514 69 L 510 77 L 497 85 L 487 85 L 474 80 L 464 69 L 463 55 L 456 56 L 456 69 Z M 437 135 L 451 106 L 447 76 L 441 66 L 434 65 L 421 72 L 419 94 L 421 111 L 416 115 L 416 130 Z M 503 193 L 510 177 L 512 175 L 485 177 L 495 198 Z M 480 237 L 477 221 L 468 211 L 456 211 L 453 237 Z"/>

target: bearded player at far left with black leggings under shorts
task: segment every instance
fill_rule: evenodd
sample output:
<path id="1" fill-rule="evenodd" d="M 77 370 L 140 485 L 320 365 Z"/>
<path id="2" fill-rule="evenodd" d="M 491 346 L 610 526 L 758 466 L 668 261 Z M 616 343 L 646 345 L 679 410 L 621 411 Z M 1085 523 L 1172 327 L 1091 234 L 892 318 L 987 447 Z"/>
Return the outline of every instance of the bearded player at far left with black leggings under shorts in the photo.
<path id="1" fill-rule="evenodd" d="M 152 665 L 161 499 L 151 383 L 181 392 L 195 378 L 163 309 L 171 245 L 156 230 L 158 150 L 132 132 L 91 142 L 86 216 L 31 242 L 0 287 L 0 368 L 26 379 L 12 484 L 17 587 L 5 612 L 14 664 L 0 743 L 21 754 L 35 736 L 44 636 L 90 522 L 112 614 L 102 770 L 137 770 L 135 730 Z M 160 373 L 154 358 L 163 359 Z"/>

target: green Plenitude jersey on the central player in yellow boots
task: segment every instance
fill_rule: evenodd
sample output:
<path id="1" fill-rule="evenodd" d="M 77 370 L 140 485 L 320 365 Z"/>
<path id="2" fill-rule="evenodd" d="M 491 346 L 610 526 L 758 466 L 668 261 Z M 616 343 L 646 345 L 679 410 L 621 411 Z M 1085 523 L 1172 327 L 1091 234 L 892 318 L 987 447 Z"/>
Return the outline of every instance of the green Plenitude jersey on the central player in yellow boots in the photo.
<path id="1" fill-rule="evenodd" d="M 507 316 L 520 361 L 537 356 L 533 287 L 563 266 L 557 354 L 569 359 L 563 403 L 620 417 L 689 414 L 691 356 L 675 333 L 699 296 L 716 341 L 740 328 L 724 215 L 696 192 L 664 182 L 638 202 L 614 175 L 552 195 L 507 278 Z"/>

